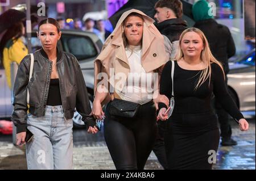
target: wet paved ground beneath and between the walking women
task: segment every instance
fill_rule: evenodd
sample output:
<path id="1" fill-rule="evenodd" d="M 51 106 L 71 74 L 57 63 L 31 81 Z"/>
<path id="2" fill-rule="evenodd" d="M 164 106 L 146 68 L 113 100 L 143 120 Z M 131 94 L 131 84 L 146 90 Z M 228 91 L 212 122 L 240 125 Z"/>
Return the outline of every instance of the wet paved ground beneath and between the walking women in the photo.
<path id="1" fill-rule="evenodd" d="M 255 170 L 255 117 L 248 119 L 250 129 L 241 132 L 232 122 L 236 146 L 219 146 L 214 170 Z M 101 131 L 88 134 L 84 129 L 73 131 L 73 169 L 110 170 L 115 169 Z M 12 144 L 10 135 L 0 135 L 0 169 L 27 169 L 26 150 Z M 147 160 L 146 170 L 162 170 L 154 153 Z"/>

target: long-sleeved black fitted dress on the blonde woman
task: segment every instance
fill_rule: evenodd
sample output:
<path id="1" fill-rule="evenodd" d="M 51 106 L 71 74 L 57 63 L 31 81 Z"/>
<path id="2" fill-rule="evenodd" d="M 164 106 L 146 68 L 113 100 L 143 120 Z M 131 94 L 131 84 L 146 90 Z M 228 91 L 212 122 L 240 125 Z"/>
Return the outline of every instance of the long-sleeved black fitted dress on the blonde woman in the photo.
<path id="1" fill-rule="evenodd" d="M 171 61 L 167 62 L 160 81 L 160 94 L 169 99 L 171 66 Z M 220 139 L 217 117 L 210 106 L 213 94 L 232 117 L 243 118 L 226 90 L 220 66 L 213 63 L 211 68 L 210 84 L 208 78 L 195 90 L 201 70 L 182 69 L 175 61 L 175 107 L 164 133 L 168 169 L 212 169 L 213 151 L 217 153 Z M 159 110 L 163 107 L 165 104 L 159 103 Z"/>

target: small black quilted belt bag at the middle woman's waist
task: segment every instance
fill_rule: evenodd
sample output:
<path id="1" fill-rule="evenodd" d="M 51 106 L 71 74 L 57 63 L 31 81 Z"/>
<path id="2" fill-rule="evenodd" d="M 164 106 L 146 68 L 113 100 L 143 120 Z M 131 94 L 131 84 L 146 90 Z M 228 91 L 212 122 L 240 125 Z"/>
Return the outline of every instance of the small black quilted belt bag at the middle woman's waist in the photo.
<path id="1" fill-rule="evenodd" d="M 113 99 L 109 103 L 109 113 L 113 116 L 134 117 L 141 104 L 122 99 Z"/>

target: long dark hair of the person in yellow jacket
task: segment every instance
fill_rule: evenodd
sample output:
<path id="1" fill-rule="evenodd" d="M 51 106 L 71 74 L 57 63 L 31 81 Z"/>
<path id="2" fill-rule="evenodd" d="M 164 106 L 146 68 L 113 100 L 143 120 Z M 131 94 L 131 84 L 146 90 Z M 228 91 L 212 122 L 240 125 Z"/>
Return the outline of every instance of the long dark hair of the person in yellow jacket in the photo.
<path id="1" fill-rule="evenodd" d="M 7 41 L 14 39 L 14 41 L 18 40 L 20 36 L 22 36 L 22 28 L 23 28 L 22 22 L 17 22 L 13 26 L 11 26 L 6 32 L 5 35 L 3 35 L 1 43 L 0 43 L 0 54 L 1 54 L 1 60 L 3 61 L 3 49 L 5 48 L 5 45 Z M 2 63 L 3 65 L 3 63 Z"/>

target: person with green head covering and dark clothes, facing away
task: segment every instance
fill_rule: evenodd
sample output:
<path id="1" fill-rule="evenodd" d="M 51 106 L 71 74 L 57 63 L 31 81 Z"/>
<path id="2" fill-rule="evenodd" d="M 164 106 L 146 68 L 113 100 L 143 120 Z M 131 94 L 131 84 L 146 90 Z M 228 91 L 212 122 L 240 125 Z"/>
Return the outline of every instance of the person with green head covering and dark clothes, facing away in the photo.
<path id="1" fill-rule="evenodd" d="M 229 73 L 228 59 L 236 54 L 236 46 L 229 28 L 223 24 L 217 23 L 209 12 L 210 7 L 207 1 L 197 1 L 192 7 L 193 17 L 196 21 L 194 27 L 204 32 L 213 56 L 221 62 L 224 68 L 225 83 L 227 86 L 228 77 L 226 75 Z M 222 108 L 217 100 L 215 100 L 214 107 L 216 108 L 218 122 L 220 123 L 221 145 L 237 145 L 237 142 L 231 137 L 232 128 L 229 123 L 229 114 Z"/>

